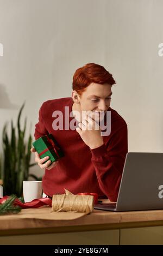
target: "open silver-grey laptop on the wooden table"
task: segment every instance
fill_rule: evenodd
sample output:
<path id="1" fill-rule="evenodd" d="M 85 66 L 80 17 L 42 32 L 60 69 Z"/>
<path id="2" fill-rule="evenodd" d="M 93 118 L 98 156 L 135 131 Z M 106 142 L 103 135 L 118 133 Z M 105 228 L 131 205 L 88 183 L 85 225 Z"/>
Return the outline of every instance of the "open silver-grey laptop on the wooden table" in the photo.
<path id="1" fill-rule="evenodd" d="M 163 209 L 163 153 L 127 153 L 117 203 L 98 203 L 94 208 L 105 211 Z"/>

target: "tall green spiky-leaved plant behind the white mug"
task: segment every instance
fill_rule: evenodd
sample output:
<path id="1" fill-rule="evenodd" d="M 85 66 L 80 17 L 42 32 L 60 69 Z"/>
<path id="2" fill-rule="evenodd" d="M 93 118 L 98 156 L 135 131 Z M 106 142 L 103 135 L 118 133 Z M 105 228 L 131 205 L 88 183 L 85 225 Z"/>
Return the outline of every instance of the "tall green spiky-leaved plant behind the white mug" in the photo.
<path id="1" fill-rule="evenodd" d="M 16 128 L 11 120 L 11 136 L 7 133 L 7 123 L 3 128 L 3 192 L 4 195 L 15 194 L 17 197 L 22 196 L 23 181 L 28 180 L 29 168 L 36 163 L 30 164 L 32 147 L 32 136 L 29 134 L 28 141 L 25 140 L 27 117 L 24 121 L 24 127 L 20 127 L 20 118 L 24 103 L 18 113 L 17 118 L 17 135 Z M 37 179 L 35 175 L 33 178 Z"/>

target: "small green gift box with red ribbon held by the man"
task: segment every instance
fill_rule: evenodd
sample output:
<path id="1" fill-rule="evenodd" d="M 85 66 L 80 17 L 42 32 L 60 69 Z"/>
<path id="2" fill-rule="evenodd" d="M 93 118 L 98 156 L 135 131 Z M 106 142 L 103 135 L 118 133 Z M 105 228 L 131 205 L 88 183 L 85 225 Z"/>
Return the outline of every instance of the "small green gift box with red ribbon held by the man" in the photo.
<path id="1" fill-rule="evenodd" d="M 64 157 L 64 153 L 52 134 L 40 137 L 39 139 L 35 140 L 32 145 L 39 154 L 40 158 L 48 156 L 48 160 L 51 160 L 51 163 L 57 161 L 61 157 Z M 45 163 L 48 160 L 46 160 Z"/>

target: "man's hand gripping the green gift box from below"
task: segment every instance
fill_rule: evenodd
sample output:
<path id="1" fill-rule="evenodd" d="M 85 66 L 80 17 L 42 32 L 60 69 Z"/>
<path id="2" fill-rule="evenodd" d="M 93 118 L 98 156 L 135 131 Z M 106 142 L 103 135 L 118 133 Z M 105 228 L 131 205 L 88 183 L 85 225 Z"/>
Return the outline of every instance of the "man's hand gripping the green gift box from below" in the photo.
<path id="1" fill-rule="evenodd" d="M 46 168 L 46 169 L 50 170 L 50 169 L 52 169 L 55 165 L 58 164 L 58 161 L 53 162 L 53 163 L 51 164 L 51 160 L 48 160 L 49 157 L 40 158 L 40 157 L 39 157 L 39 154 L 37 153 L 37 151 L 35 150 L 34 147 L 30 148 L 30 152 L 35 153 L 35 162 L 40 166 L 41 169 Z M 45 162 L 46 160 L 48 160 L 48 161 L 44 164 L 44 162 Z M 50 165 L 50 164 L 51 164 L 51 165 Z M 50 166 L 49 166 L 49 165 L 50 165 Z M 48 166 L 49 166 L 49 167 L 48 167 Z"/>

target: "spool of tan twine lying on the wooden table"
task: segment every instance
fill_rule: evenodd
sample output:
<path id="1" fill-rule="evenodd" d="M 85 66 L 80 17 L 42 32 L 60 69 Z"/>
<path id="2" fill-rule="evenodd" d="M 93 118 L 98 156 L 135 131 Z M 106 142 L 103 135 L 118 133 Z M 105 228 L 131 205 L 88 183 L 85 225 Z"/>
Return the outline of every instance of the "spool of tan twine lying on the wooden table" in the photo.
<path id="1" fill-rule="evenodd" d="M 53 195 L 52 211 L 54 212 L 85 212 L 93 211 L 93 195 L 73 195 L 72 193 Z"/>

